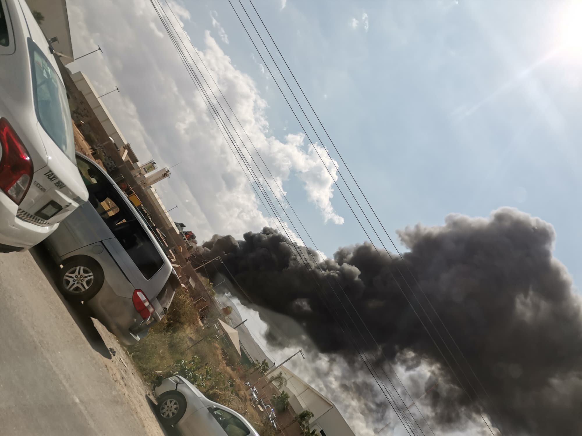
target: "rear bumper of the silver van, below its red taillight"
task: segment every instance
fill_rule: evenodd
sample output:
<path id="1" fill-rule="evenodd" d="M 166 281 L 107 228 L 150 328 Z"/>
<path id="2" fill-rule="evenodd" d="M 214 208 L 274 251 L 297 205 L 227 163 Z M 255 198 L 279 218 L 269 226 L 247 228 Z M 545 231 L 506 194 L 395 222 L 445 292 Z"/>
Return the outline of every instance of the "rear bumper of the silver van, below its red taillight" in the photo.
<path id="1" fill-rule="evenodd" d="M 95 317 L 125 345 L 137 344 L 157 322 L 152 319 L 147 324 L 137 313 L 132 299 L 116 295 L 107 281 L 86 304 Z"/>

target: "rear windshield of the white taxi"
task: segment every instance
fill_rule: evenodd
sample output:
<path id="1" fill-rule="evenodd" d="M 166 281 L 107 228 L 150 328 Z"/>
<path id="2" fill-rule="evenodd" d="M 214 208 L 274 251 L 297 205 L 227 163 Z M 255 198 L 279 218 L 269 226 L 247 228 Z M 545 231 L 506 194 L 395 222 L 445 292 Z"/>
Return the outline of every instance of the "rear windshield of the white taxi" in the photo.
<path id="1" fill-rule="evenodd" d="M 38 122 L 58 148 L 75 162 L 73 125 L 65 87 L 51 62 L 31 40 L 29 51 Z"/>

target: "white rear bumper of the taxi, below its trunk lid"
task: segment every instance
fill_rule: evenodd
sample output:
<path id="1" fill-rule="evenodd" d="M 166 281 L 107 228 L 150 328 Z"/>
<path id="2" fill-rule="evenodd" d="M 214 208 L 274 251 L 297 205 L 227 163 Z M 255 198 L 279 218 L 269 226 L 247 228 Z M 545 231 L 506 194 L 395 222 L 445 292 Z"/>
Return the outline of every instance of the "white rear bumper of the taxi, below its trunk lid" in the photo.
<path id="1" fill-rule="evenodd" d="M 24 251 L 42 242 L 56 230 L 58 224 L 40 227 L 16 217 L 18 205 L 0 191 L 0 247 Z M 5 252 L 5 251 L 2 251 Z"/>

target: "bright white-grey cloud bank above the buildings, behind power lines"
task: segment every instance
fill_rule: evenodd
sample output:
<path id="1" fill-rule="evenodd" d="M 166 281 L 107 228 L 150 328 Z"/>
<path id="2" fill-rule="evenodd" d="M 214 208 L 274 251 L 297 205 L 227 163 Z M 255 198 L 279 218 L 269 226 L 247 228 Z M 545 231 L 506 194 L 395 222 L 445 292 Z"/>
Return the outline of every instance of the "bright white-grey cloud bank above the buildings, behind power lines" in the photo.
<path id="1" fill-rule="evenodd" d="M 71 23 L 79 23 L 72 24 L 74 50 L 86 52 L 99 44 L 105 53 L 87 56 L 70 68 L 82 69 L 98 91 L 112 83 L 123 90 L 108 101 L 109 110 L 139 158 L 153 158 L 159 165 L 184 161 L 157 187 L 164 189 L 166 204 L 179 206 L 172 212 L 176 219 L 191 226 L 198 241 L 214 233 L 240 237 L 249 230 L 274 226 L 261 212 L 253 188 L 171 41 L 152 32 L 150 23 L 158 17 L 150 2 L 103 0 L 97 5 L 80 0 L 69 6 L 69 15 Z M 187 13 L 179 17 L 186 20 Z M 342 223 L 331 203 L 331 177 L 311 144 L 304 142 L 303 135 L 276 138 L 269 133 L 267 102 L 253 79 L 232 65 L 208 31 L 199 51 L 279 186 L 285 190 L 290 180 L 300 181 L 323 219 Z M 193 58 L 197 60 L 196 55 Z M 212 83 L 208 76 L 207 81 Z M 237 126 L 237 130 L 246 140 L 242 129 Z M 329 158 L 324 161 L 337 177 Z"/>

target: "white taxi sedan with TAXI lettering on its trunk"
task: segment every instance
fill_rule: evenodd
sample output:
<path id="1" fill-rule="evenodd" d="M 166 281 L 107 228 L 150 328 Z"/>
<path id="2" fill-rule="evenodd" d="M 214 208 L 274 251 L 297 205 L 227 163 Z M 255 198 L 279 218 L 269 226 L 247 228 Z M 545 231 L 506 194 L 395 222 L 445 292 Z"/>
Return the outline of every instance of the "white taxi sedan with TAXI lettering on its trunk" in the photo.
<path id="1" fill-rule="evenodd" d="M 87 190 L 65 87 L 24 0 L 0 0 L 0 252 L 50 235 Z"/>

